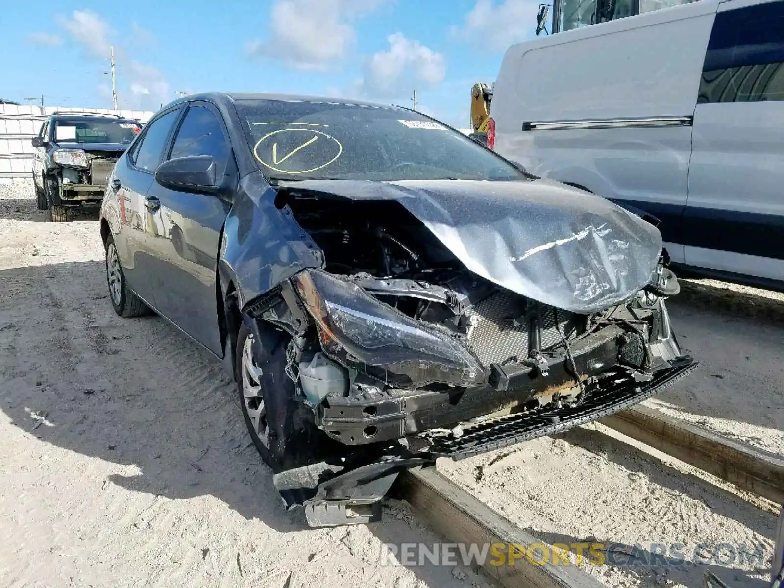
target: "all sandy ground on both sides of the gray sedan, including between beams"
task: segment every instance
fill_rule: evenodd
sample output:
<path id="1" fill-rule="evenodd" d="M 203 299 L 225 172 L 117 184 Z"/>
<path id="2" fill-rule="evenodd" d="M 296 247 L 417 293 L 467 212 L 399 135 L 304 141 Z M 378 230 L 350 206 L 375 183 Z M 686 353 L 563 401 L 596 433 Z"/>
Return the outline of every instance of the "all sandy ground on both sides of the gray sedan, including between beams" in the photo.
<path id="1" fill-rule="evenodd" d="M 286 514 L 216 362 L 161 319 L 118 318 L 94 217 L 48 223 L 31 198 L 0 186 L 5 585 L 488 585 L 380 566 L 382 543 L 436 540 L 405 503 L 332 530 Z M 670 309 L 702 366 L 647 404 L 784 454 L 784 296 L 684 281 Z M 614 435 L 590 425 L 439 470 L 545 543 L 684 544 L 680 569 L 584 566 L 608 586 L 699 586 L 700 542 L 764 546 L 764 564 L 713 568 L 765 586 L 770 505 Z"/>

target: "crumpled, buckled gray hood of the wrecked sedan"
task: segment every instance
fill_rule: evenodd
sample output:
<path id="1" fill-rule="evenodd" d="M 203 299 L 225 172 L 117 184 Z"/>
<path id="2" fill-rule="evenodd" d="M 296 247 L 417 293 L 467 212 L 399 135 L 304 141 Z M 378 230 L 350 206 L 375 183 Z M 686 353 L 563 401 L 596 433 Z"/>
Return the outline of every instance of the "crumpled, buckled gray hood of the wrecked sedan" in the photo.
<path id="1" fill-rule="evenodd" d="M 394 200 L 474 274 L 522 296 L 588 314 L 651 280 L 662 252 L 652 224 L 551 180 L 305 180 L 281 187 Z"/>

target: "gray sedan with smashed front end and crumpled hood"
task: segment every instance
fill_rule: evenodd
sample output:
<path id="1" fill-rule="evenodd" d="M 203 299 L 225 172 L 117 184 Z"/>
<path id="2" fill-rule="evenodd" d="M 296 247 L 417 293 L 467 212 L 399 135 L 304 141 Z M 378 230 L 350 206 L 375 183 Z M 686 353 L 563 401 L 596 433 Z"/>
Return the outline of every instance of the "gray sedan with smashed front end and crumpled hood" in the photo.
<path id="1" fill-rule="evenodd" d="M 114 310 L 223 361 L 285 506 L 318 526 L 376 520 L 401 470 L 690 372 L 642 216 L 405 108 L 209 93 L 136 136 L 100 231 Z"/>

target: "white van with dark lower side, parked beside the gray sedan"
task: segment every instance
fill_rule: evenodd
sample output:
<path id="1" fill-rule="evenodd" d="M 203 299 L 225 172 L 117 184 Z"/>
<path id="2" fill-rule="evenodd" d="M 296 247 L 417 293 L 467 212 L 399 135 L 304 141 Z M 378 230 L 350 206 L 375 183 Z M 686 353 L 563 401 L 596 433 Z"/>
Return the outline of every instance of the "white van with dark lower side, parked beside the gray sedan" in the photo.
<path id="1" fill-rule="evenodd" d="M 661 220 L 673 263 L 784 285 L 784 2 L 700 0 L 513 45 L 495 151 Z"/>

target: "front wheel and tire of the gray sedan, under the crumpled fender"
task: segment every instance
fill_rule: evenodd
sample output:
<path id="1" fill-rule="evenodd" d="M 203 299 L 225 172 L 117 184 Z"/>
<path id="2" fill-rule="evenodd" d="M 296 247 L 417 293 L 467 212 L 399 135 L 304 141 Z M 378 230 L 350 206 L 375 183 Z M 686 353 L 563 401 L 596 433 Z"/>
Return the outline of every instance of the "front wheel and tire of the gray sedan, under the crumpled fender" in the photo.
<path id="1" fill-rule="evenodd" d="M 261 344 L 255 344 L 250 329 L 241 325 L 237 336 L 237 388 L 253 445 L 277 473 L 312 463 L 316 456 L 313 448 L 318 445 L 314 437 L 319 431 L 312 423 L 296 419 L 300 405 L 295 401 L 294 383 L 285 374 L 289 335 L 270 329 L 262 337 Z M 295 419 L 299 427 L 295 427 Z"/>

